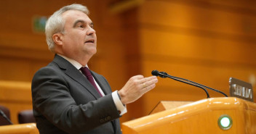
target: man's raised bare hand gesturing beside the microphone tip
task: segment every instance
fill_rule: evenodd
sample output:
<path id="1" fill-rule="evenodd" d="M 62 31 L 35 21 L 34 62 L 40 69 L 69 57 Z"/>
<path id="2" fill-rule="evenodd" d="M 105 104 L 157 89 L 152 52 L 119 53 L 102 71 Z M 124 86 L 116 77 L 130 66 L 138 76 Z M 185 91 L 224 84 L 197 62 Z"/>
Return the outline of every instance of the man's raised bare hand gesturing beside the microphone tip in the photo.
<path id="1" fill-rule="evenodd" d="M 129 104 L 136 101 L 144 93 L 156 87 L 158 79 L 156 76 L 144 78 L 143 75 L 136 75 L 130 78 L 127 83 L 118 91 L 123 104 Z"/>

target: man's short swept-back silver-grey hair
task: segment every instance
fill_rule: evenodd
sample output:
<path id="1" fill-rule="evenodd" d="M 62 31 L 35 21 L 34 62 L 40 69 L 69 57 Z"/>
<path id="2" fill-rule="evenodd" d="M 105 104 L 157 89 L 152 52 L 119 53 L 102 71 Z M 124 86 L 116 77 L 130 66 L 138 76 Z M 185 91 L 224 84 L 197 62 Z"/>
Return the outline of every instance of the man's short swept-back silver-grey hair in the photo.
<path id="1" fill-rule="evenodd" d="M 87 7 L 81 4 L 71 4 L 61 9 L 57 10 L 51 17 L 47 20 L 45 25 L 45 35 L 47 38 L 47 44 L 50 51 L 55 53 L 55 41 L 52 39 L 52 35 L 55 33 L 64 33 L 65 20 L 63 20 L 62 14 L 68 10 L 77 10 L 84 12 L 84 14 L 89 15 L 89 10 Z"/>

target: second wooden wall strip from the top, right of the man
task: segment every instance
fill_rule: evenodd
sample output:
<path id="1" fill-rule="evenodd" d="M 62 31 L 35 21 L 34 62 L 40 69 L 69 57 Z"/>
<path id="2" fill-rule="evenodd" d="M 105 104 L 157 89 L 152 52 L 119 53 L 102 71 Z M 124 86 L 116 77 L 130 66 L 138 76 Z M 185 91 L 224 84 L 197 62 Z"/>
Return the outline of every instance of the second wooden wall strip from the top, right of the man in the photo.
<path id="1" fill-rule="evenodd" d="M 164 56 L 163 58 L 177 56 L 204 59 L 211 63 L 212 61 L 241 63 L 236 65 L 256 63 L 252 60 L 256 46 L 251 43 L 197 36 L 193 33 L 168 33 L 148 28 L 141 28 L 140 34 L 143 54 Z"/>

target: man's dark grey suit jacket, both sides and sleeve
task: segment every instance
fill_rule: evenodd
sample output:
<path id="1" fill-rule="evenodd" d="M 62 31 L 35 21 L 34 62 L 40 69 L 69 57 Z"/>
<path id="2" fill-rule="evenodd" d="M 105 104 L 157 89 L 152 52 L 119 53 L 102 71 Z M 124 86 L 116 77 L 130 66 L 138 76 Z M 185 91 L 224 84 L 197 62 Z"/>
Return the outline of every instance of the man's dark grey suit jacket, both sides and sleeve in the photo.
<path id="1" fill-rule="evenodd" d="M 111 87 L 102 75 L 92 72 L 105 96 L 70 62 L 55 55 L 32 80 L 33 114 L 41 134 L 121 133 L 119 112 Z"/>

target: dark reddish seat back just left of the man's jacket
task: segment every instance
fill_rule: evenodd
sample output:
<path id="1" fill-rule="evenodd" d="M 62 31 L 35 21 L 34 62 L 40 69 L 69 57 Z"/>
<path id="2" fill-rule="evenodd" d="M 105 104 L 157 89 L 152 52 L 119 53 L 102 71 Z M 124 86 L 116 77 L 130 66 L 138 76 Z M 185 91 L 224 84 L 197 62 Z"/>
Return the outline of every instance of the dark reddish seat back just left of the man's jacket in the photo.
<path id="1" fill-rule="evenodd" d="M 20 124 L 36 122 L 35 118 L 33 117 L 33 110 L 20 111 L 18 114 L 18 120 Z"/>

